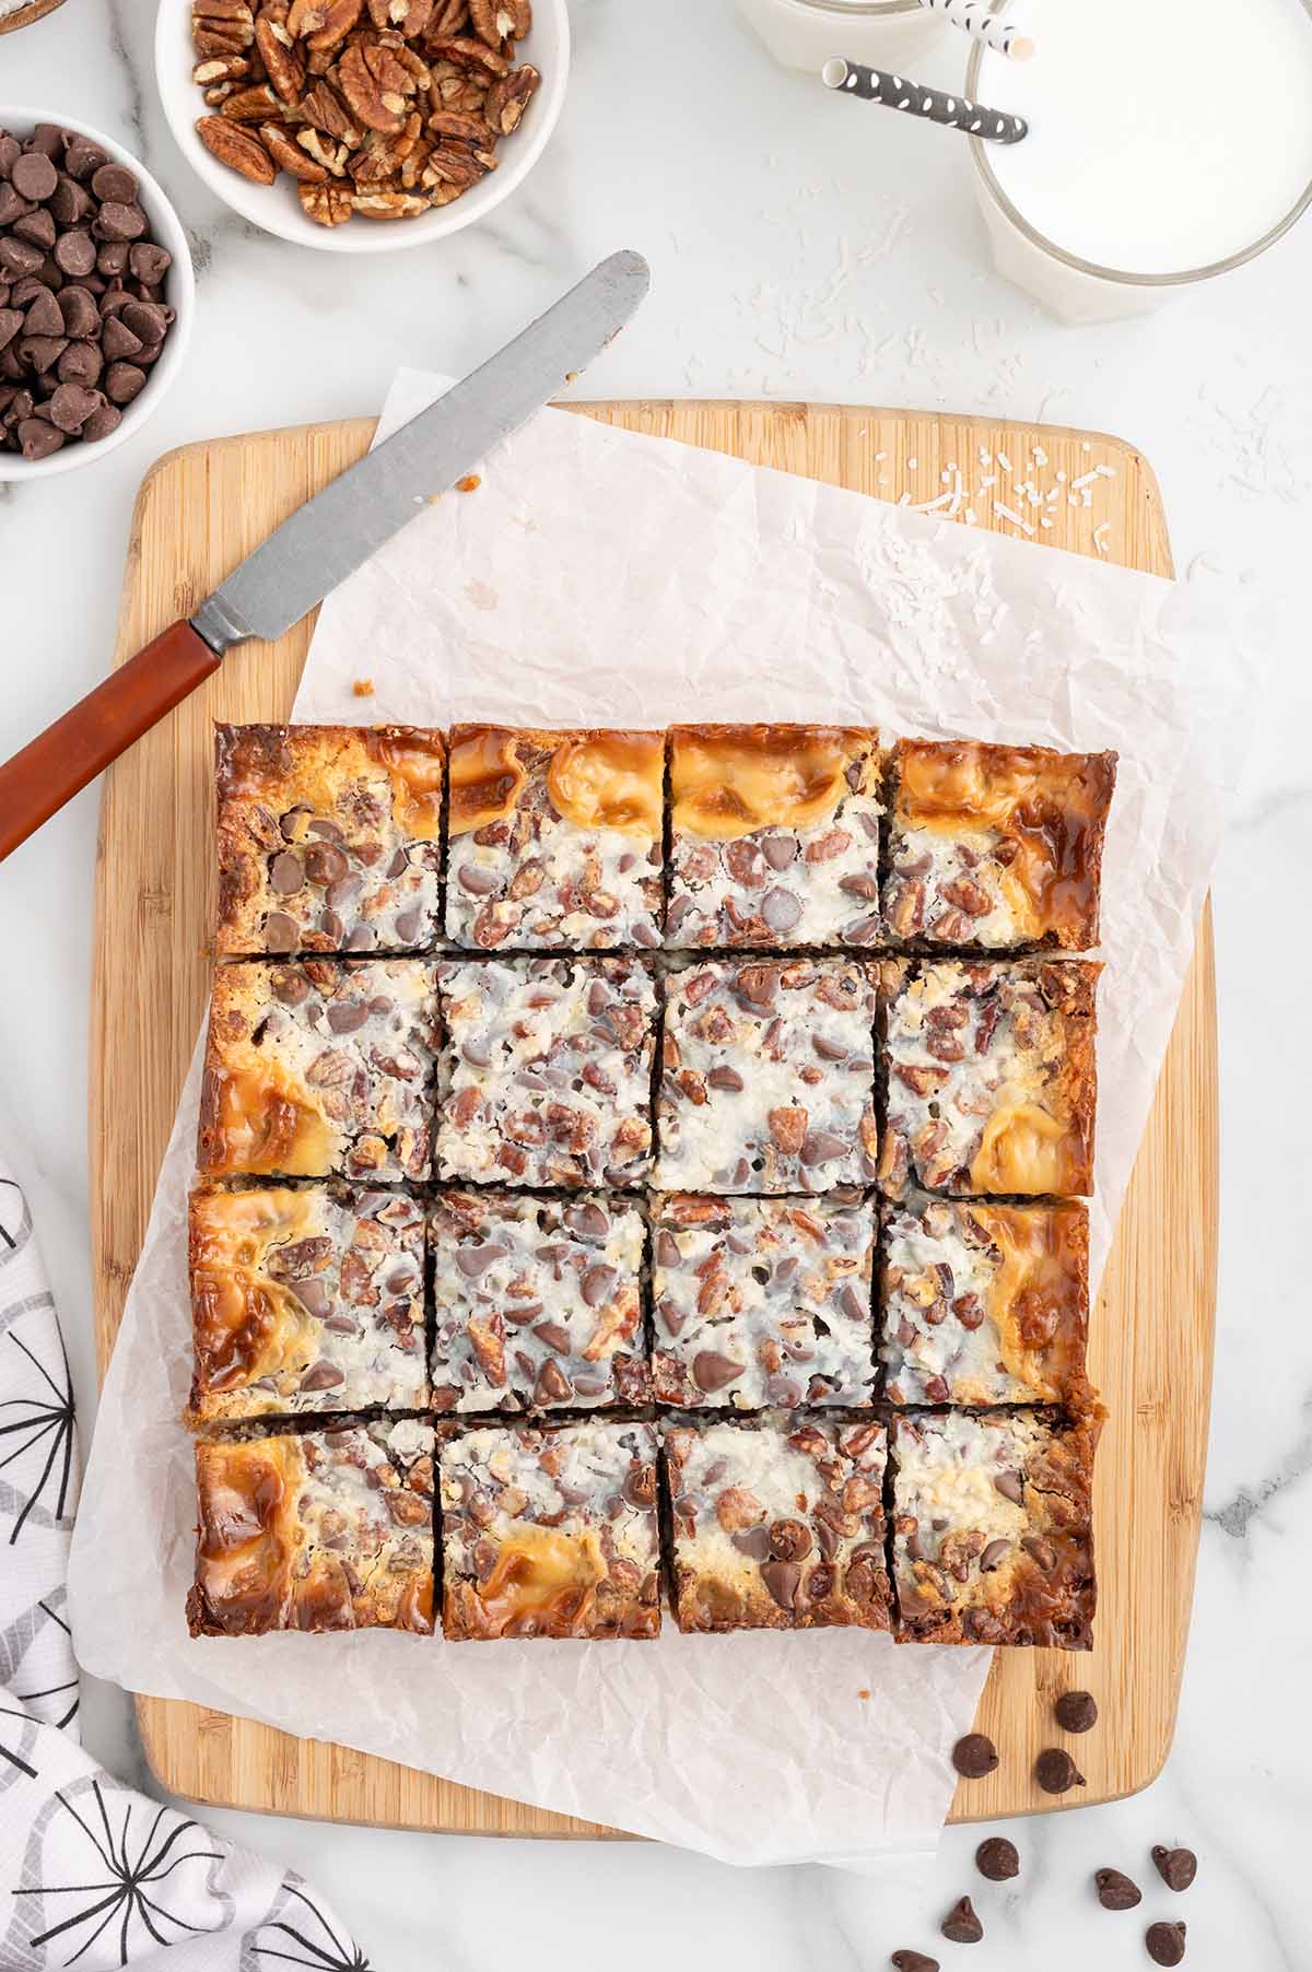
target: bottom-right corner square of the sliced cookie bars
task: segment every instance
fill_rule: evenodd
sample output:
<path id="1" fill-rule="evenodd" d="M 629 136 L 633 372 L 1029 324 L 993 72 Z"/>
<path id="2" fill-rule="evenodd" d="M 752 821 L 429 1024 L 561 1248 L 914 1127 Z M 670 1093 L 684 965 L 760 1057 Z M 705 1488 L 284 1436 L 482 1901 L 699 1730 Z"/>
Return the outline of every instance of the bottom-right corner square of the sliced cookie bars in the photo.
<path id="1" fill-rule="evenodd" d="M 900 1643 L 1093 1647 L 1099 1418 L 894 1418 Z"/>

